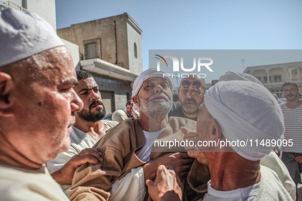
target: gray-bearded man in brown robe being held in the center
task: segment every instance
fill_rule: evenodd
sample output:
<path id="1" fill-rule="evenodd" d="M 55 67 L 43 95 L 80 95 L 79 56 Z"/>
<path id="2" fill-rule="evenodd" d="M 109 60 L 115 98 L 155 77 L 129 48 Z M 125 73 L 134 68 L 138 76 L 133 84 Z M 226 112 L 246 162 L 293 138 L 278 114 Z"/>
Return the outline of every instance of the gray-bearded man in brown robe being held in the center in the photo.
<path id="1" fill-rule="evenodd" d="M 145 181 L 155 178 L 159 164 L 172 165 L 182 181 L 186 180 L 193 160 L 187 153 L 178 153 L 185 149 L 179 145 L 155 147 L 153 143 L 163 139 L 181 141 L 180 127 L 196 128 L 196 122 L 190 119 L 168 119 L 173 88 L 171 80 L 163 78 L 164 73 L 148 69 L 135 79 L 132 101 L 133 108 L 140 109 L 140 118 L 125 119 L 95 144 L 104 160 L 100 165 L 84 164 L 76 170 L 69 192 L 71 200 L 110 200 L 111 184 L 125 180 L 125 175 L 134 168 L 138 179 L 130 179 L 128 190 L 121 191 L 114 200 L 144 200 L 148 196 Z"/>

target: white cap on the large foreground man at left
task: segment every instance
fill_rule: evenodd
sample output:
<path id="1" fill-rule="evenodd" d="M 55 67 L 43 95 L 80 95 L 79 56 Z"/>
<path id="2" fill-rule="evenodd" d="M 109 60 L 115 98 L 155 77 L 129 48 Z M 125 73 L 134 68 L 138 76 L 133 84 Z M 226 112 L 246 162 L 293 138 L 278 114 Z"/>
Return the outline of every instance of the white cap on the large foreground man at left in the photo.
<path id="1" fill-rule="evenodd" d="M 0 11 L 0 67 L 64 43 L 52 26 L 35 13 Z"/>

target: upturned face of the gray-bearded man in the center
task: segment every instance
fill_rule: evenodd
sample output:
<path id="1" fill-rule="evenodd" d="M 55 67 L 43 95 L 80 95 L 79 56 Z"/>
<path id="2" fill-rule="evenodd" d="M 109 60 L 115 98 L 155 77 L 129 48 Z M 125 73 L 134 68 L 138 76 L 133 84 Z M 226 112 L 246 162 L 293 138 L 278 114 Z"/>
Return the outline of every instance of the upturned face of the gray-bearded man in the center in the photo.
<path id="1" fill-rule="evenodd" d="M 146 80 L 138 92 L 140 112 L 149 117 L 164 117 L 172 107 L 172 91 L 169 82 L 160 77 Z"/>

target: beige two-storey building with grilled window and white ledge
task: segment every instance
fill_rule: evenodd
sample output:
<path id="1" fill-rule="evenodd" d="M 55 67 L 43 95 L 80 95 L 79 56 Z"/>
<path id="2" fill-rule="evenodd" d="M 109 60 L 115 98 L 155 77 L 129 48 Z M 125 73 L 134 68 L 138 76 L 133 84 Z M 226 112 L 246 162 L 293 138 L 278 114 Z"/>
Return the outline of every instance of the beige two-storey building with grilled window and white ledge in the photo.
<path id="1" fill-rule="evenodd" d="M 94 75 L 107 113 L 126 109 L 132 84 L 143 71 L 142 33 L 127 13 L 57 30 L 59 37 L 79 45 L 80 69 Z"/>

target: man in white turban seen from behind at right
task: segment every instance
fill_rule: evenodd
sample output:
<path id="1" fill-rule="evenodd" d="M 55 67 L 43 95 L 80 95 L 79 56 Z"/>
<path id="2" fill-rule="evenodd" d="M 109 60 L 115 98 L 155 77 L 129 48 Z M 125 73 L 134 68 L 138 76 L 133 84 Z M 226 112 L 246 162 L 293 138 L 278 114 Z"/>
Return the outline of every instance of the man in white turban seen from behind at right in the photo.
<path id="1" fill-rule="evenodd" d="M 196 142 L 214 141 L 219 145 L 198 146 L 211 173 L 203 200 L 291 200 L 276 173 L 259 164 L 273 146 L 254 143 L 276 141 L 283 133 L 281 108 L 265 87 L 245 81 L 219 82 L 211 87 L 200 107 Z M 220 146 L 227 141 L 240 143 Z M 197 160 L 203 162 L 202 157 Z M 162 176 L 156 180 L 162 181 Z M 204 185 L 201 188 L 206 190 Z"/>

